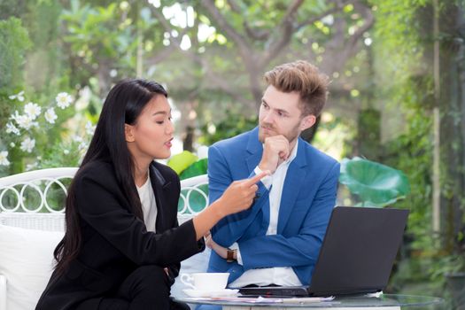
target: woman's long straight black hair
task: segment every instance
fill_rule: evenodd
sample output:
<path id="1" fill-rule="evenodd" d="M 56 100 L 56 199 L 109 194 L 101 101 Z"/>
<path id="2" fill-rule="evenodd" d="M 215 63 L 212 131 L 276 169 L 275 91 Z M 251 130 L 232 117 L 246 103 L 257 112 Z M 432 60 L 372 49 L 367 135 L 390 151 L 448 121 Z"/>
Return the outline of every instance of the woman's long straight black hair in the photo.
<path id="1" fill-rule="evenodd" d="M 167 90 L 155 81 L 123 80 L 116 84 L 105 99 L 97 128 L 89 144 L 78 176 L 83 167 L 97 160 L 112 162 L 120 189 L 128 198 L 133 212 L 143 220 L 142 205 L 134 185 L 134 160 L 126 143 L 124 125 L 134 125 L 137 118 L 155 96 L 167 97 Z M 66 233 L 53 255 L 57 260 L 55 269 L 63 272 L 81 250 L 81 228 L 74 198 L 74 182 L 66 198 Z"/>

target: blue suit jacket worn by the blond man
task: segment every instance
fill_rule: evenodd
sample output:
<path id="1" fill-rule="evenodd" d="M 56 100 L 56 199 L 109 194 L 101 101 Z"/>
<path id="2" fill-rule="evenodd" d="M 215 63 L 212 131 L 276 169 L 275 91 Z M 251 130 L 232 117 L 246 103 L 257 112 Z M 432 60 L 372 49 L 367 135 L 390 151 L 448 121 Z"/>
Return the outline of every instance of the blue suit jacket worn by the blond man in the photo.
<path id="1" fill-rule="evenodd" d="M 208 151 L 210 203 L 233 181 L 254 174 L 263 146 L 259 129 L 214 143 Z M 208 271 L 229 272 L 229 283 L 245 270 L 292 267 L 303 284 L 310 283 L 329 215 L 336 203 L 339 163 L 304 140 L 288 168 L 278 217 L 277 234 L 266 236 L 269 224 L 268 190 L 259 182 L 257 199 L 248 210 L 229 215 L 212 229 L 222 246 L 239 244 L 244 265 L 228 263 L 212 251 Z"/>

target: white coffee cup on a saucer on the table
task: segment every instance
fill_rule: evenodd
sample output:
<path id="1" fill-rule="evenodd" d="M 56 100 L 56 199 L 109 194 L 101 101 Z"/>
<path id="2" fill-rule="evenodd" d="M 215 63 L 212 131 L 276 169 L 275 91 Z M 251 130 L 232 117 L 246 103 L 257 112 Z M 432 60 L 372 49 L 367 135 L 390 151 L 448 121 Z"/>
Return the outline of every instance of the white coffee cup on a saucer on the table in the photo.
<path id="1" fill-rule="evenodd" d="M 229 273 L 182 274 L 181 282 L 196 291 L 221 291 L 228 284 Z"/>

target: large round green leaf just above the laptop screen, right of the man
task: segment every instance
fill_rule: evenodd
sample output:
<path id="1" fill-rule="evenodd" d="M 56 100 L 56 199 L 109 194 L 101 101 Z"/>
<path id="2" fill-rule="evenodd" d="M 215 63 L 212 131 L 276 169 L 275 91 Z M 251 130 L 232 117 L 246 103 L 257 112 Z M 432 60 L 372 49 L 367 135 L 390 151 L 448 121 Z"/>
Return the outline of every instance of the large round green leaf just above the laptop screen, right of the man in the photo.
<path id="1" fill-rule="evenodd" d="M 407 176 L 401 171 L 359 157 L 342 159 L 339 182 L 366 206 L 390 205 L 410 192 Z"/>

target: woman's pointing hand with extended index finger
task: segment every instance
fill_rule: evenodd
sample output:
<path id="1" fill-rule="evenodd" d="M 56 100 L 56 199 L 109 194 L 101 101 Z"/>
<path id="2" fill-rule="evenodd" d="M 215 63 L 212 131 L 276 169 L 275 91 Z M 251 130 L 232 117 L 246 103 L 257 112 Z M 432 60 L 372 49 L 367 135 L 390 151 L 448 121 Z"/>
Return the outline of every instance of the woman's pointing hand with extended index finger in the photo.
<path id="1" fill-rule="evenodd" d="M 255 193 L 259 189 L 256 183 L 268 174 L 268 171 L 263 171 L 261 174 L 257 174 L 250 179 L 232 182 L 221 195 L 221 198 L 217 200 L 221 204 L 221 211 L 224 215 L 248 209 L 252 205 Z"/>

